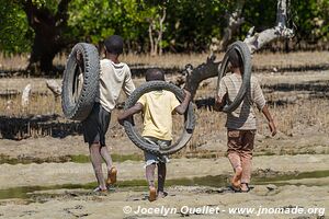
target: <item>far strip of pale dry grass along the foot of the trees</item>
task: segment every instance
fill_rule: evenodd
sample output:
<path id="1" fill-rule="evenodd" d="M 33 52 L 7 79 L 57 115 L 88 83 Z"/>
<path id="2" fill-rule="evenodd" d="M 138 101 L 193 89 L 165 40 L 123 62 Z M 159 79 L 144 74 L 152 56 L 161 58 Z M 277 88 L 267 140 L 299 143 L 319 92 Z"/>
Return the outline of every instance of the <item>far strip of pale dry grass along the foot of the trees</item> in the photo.
<path id="1" fill-rule="evenodd" d="M 122 61 L 128 65 L 146 65 L 161 68 L 182 69 L 186 64 L 194 67 L 204 62 L 209 54 L 164 54 L 163 56 L 134 55 L 126 54 L 121 57 Z M 224 54 L 216 54 L 217 60 L 222 60 Z M 0 55 L 0 70 L 22 70 L 27 66 L 29 56 L 4 57 Z M 54 65 L 65 65 L 67 55 L 58 55 L 54 59 Z M 256 68 L 264 67 L 299 67 L 326 65 L 329 60 L 329 54 L 326 51 L 303 51 L 288 54 L 259 53 L 253 55 L 253 66 Z"/>

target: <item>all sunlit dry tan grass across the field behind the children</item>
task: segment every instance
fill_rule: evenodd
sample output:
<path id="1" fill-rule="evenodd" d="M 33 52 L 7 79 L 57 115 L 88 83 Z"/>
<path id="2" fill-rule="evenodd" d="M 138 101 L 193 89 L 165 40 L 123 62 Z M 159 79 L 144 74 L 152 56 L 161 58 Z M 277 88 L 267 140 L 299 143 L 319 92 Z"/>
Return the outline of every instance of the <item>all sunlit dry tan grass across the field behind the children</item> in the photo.
<path id="1" fill-rule="evenodd" d="M 223 55 L 218 55 L 223 56 Z M 311 58 L 310 58 L 311 57 Z M 123 60 L 131 65 L 148 65 L 160 66 L 166 68 L 183 68 L 185 64 L 192 62 L 194 66 L 204 61 L 206 54 L 200 55 L 164 55 L 162 57 L 135 56 L 126 55 Z M 256 66 L 299 66 L 299 65 L 322 65 L 329 59 L 328 53 L 292 53 L 285 54 L 266 54 L 256 55 L 253 60 Z M 0 57 L 2 69 L 23 68 L 26 57 L 13 57 L 12 59 Z M 65 56 L 57 57 L 58 64 L 65 62 Z M 269 72 L 258 73 L 258 78 L 263 84 L 264 93 L 271 103 L 270 110 L 277 123 L 279 130 L 286 136 L 295 135 L 295 132 L 320 131 L 329 132 L 329 106 L 328 90 L 319 91 L 318 88 L 329 87 L 328 71 L 307 71 L 307 72 Z M 138 87 L 144 81 L 141 78 L 135 78 L 134 81 Z M 50 91 L 47 90 L 45 79 L 37 78 L 13 78 L 0 80 L 0 92 L 5 90 L 16 90 L 21 92 L 23 88 L 32 84 L 32 99 L 27 108 L 21 106 L 21 94 L 0 96 L 0 116 L 24 117 L 26 115 L 61 115 L 60 101 L 55 102 Z M 58 80 L 60 83 L 60 80 Z M 287 88 L 282 90 L 281 87 Z M 314 90 L 308 87 L 297 88 L 298 84 L 313 84 Z M 212 97 L 215 93 L 216 79 L 209 79 L 203 82 L 197 91 L 196 99 Z M 296 87 L 296 88 L 295 88 Z M 281 89 L 281 90 L 280 90 Z M 320 95 L 318 95 L 320 94 Z M 297 96 L 297 97 L 296 97 Z M 292 99 L 293 97 L 293 99 Z M 122 99 L 123 100 L 123 99 Z M 279 101 L 286 101 L 279 104 Z M 112 123 L 115 123 L 116 113 L 113 113 Z M 218 132 L 225 132 L 225 114 L 215 113 L 206 108 L 195 111 L 197 116 L 197 126 L 190 143 L 191 148 L 197 148 L 206 143 L 209 139 L 218 138 Z M 262 115 L 260 118 L 259 134 L 269 135 L 266 123 Z M 64 120 L 68 123 L 67 120 Z M 140 119 L 137 124 L 141 124 Z M 182 117 L 174 117 L 173 132 L 177 135 L 181 130 Z M 29 130 L 29 132 L 33 132 Z M 122 128 L 113 128 L 111 134 L 116 137 L 125 137 Z"/>

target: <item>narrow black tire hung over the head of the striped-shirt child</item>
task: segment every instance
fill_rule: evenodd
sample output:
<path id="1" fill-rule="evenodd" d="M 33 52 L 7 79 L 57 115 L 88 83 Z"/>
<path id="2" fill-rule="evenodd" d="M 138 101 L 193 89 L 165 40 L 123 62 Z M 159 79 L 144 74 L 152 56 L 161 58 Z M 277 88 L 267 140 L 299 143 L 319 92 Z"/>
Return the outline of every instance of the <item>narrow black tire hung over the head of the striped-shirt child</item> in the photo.
<path id="1" fill-rule="evenodd" d="M 228 47 L 228 49 L 222 60 L 220 69 L 218 71 L 218 79 L 217 79 L 217 93 L 218 93 L 218 89 L 219 89 L 219 82 L 220 82 L 222 78 L 226 74 L 227 65 L 229 62 L 228 61 L 228 53 L 231 49 L 236 49 L 242 59 L 242 62 L 243 62 L 243 70 L 242 70 L 243 76 L 242 77 L 243 78 L 242 78 L 241 88 L 240 88 L 236 99 L 234 100 L 234 102 L 229 105 L 226 104 L 223 107 L 223 112 L 225 112 L 225 113 L 234 112 L 241 104 L 247 92 L 250 89 L 251 54 L 250 54 L 250 50 L 246 43 L 237 41 Z"/>

